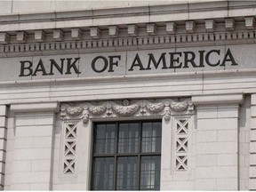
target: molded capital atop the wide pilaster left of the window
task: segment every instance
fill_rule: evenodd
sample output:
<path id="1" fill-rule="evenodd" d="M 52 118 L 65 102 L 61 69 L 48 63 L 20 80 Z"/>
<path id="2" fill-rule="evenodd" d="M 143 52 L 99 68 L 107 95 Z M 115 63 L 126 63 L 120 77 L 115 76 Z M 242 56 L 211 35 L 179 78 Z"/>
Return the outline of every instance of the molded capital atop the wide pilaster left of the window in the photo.
<path id="1" fill-rule="evenodd" d="M 33 102 L 33 103 L 14 103 L 10 108 L 14 113 L 28 112 L 54 112 L 60 111 L 60 103 L 52 102 Z"/>

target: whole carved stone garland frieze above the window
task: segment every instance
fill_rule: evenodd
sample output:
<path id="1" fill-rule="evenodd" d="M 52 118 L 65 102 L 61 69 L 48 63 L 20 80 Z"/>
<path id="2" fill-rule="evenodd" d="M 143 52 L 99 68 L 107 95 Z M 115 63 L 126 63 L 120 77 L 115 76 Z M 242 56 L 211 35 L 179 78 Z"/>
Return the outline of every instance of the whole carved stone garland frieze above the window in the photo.
<path id="1" fill-rule="evenodd" d="M 63 103 L 60 107 L 62 120 L 83 119 L 84 124 L 89 119 L 141 116 L 164 116 L 164 120 L 169 121 L 171 116 L 191 115 L 194 112 L 190 100 L 177 102 L 172 99 Z"/>

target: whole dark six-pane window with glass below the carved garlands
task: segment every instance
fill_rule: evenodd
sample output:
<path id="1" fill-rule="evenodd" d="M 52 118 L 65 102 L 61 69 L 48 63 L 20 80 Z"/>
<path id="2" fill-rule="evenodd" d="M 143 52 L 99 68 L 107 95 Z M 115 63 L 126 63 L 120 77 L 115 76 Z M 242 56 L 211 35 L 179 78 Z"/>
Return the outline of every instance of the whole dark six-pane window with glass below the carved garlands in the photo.
<path id="1" fill-rule="evenodd" d="M 161 122 L 94 125 L 93 190 L 159 190 Z"/>

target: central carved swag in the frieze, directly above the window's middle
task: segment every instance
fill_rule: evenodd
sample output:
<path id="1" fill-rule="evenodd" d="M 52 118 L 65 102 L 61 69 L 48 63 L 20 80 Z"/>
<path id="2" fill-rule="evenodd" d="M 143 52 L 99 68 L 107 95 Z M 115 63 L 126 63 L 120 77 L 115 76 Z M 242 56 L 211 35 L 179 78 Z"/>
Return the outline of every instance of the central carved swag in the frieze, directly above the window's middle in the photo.
<path id="1" fill-rule="evenodd" d="M 129 105 L 129 100 L 123 100 L 123 105 L 118 105 L 116 103 L 113 103 L 112 108 L 115 110 L 115 112 L 119 116 L 132 116 L 135 114 L 138 109 L 140 108 L 139 104 L 132 104 Z"/>

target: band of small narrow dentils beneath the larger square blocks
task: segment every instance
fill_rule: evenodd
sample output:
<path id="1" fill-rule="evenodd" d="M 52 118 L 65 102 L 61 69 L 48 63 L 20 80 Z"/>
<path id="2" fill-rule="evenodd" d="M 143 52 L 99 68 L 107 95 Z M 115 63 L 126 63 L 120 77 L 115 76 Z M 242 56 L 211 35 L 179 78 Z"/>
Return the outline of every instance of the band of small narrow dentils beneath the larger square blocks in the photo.
<path id="1" fill-rule="evenodd" d="M 1 36 L 1 35 L 0 35 Z M 0 37 L 1 38 L 1 37 Z M 234 31 L 234 32 L 216 32 L 216 33 L 200 33 L 200 34 L 180 34 L 167 36 L 141 36 L 141 37 L 125 37 L 115 39 L 99 39 L 99 40 L 83 40 L 83 41 L 68 41 L 68 42 L 50 42 L 50 43 L 33 43 L 33 44 L 6 44 L 0 45 L 0 54 L 4 57 L 17 56 L 17 53 L 22 55 L 28 52 L 31 54 L 42 54 L 42 52 L 49 52 L 49 54 L 70 52 L 74 53 L 79 50 L 82 52 L 99 52 L 115 50 L 118 47 L 120 51 L 123 49 L 138 49 L 147 48 L 150 45 L 157 45 L 159 47 L 175 48 L 198 44 L 223 44 L 228 41 L 231 44 L 254 43 L 256 32 L 254 30 Z M 118 51 L 118 50 L 117 50 Z"/>

